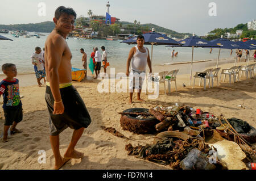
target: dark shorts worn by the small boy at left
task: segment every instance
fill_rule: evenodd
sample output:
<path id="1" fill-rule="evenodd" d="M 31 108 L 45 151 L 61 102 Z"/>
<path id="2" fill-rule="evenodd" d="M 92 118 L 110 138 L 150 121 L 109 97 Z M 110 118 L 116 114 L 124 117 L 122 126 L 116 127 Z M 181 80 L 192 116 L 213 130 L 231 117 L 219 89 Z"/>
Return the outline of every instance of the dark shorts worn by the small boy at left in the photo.
<path id="1" fill-rule="evenodd" d="M 16 108 L 3 109 L 5 112 L 5 125 L 13 125 L 13 121 L 19 123 L 23 119 L 22 106 L 17 106 Z"/>

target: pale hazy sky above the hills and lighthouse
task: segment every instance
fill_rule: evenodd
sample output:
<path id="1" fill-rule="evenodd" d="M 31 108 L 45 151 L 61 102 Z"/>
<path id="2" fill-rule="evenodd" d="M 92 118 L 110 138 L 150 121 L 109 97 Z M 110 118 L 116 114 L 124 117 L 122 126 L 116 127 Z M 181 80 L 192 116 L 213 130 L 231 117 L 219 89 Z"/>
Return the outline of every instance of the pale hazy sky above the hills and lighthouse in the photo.
<path id="1" fill-rule="evenodd" d="M 46 14 L 39 3 L 46 5 Z M 52 21 L 57 7 L 72 7 L 77 16 L 105 15 L 108 0 L 1 0 L 0 24 L 23 24 Z M 210 6 L 210 3 L 216 6 Z M 255 0 L 109 0 L 110 14 L 126 22 L 153 23 L 177 32 L 196 35 L 214 28 L 233 28 L 256 19 Z M 216 7 L 216 9 L 215 9 Z M 216 16 L 210 16 L 216 12 Z M 216 10 L 216 11 L 212 11 Z"/>

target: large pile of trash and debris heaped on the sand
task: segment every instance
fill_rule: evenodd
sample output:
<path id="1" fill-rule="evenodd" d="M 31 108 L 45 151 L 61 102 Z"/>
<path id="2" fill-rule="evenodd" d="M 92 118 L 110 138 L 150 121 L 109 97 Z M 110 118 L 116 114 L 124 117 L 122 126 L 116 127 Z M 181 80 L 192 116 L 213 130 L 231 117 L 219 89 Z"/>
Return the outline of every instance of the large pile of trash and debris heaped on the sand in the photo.
<path id="1" fill-rule="evenodd" d="M 156 137 L 160 138 L 146 146 L 126 145 L 129 155 L 168 164 L 173 169 L 230 169 L 232 164 L 229 165 L 229 161 L 221 162 L 221 157 L 216 159 L 216 164 L 208 165 L 209 151 L 217 151 L 214 146 L 218 146 L 223 153 L 230 148 L 241 150 L 239 164 L 242 159 L 243 162 L 256 161 L 256 151 L 251 145 L 256 142 L 256 129 L 246 121 L 234 117 L 226 119 L 222 115 L 217 117 L 200 109 L 177 104 L 170 107 L 157 106 L 150 110 L 138 108 L 143 111 L 136 109 L 120 113 L 123 129 L 138 134 L 159 133 Z M 231 147 L 224 148 L 225 145 Z M 241 165 L 244 169 L 245 164 Z"/>

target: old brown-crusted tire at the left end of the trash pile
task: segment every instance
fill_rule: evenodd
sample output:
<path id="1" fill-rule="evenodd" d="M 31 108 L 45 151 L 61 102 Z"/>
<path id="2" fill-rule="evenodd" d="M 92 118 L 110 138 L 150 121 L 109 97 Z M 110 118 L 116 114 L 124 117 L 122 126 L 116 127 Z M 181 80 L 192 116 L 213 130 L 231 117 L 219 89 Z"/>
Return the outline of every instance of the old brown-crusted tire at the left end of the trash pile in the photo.
<path id="1" fill-rule="evenodd" d="M 123 111 L 126 112 L 148 112 L 146 108 L 130 108 Z M 148 119 L 137 119 L 138 115 L 122 115 L 120 119 L 120 124 L 123 130 L 127 130 L 137 134 L 155 133 L 155 125 L 160 123 L 159 120 L 154 118 Z"/>

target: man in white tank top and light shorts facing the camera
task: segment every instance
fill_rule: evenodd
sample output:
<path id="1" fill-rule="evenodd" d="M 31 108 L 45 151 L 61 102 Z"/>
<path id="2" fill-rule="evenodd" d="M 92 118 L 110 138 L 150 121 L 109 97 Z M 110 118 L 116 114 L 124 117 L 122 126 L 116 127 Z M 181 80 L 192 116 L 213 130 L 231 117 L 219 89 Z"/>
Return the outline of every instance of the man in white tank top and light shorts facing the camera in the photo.
<path id="1" fill-rule="evenodd" d="M 130 63 L 131 63 L 131 71 L 129 71 Z M 141 99 L 141 89 L 142 89 L 142 83 L 145 78 L 146 65 L 148 65 L 148 68 L 150 69 L 150 73 L 152 73 L 149 51 L 148 51 L 148 48 L 144 47 L 144 36 L 139 35 L 137 37 L 137 46 L 131 48 L 129 57 L 127 59 L 127 65 L 126 65 L 126 75 L 129 76 L 129 94 L 130 94 L 129 102 L 130 103 L 133 102 L 134 90 L 135 92 L 138 92 L 137 99 L 139 101 L 144 101 L 143 99 Z M 139 85 L 138 83 L 136 83 L 135 79 L 139 80 Z"/>

